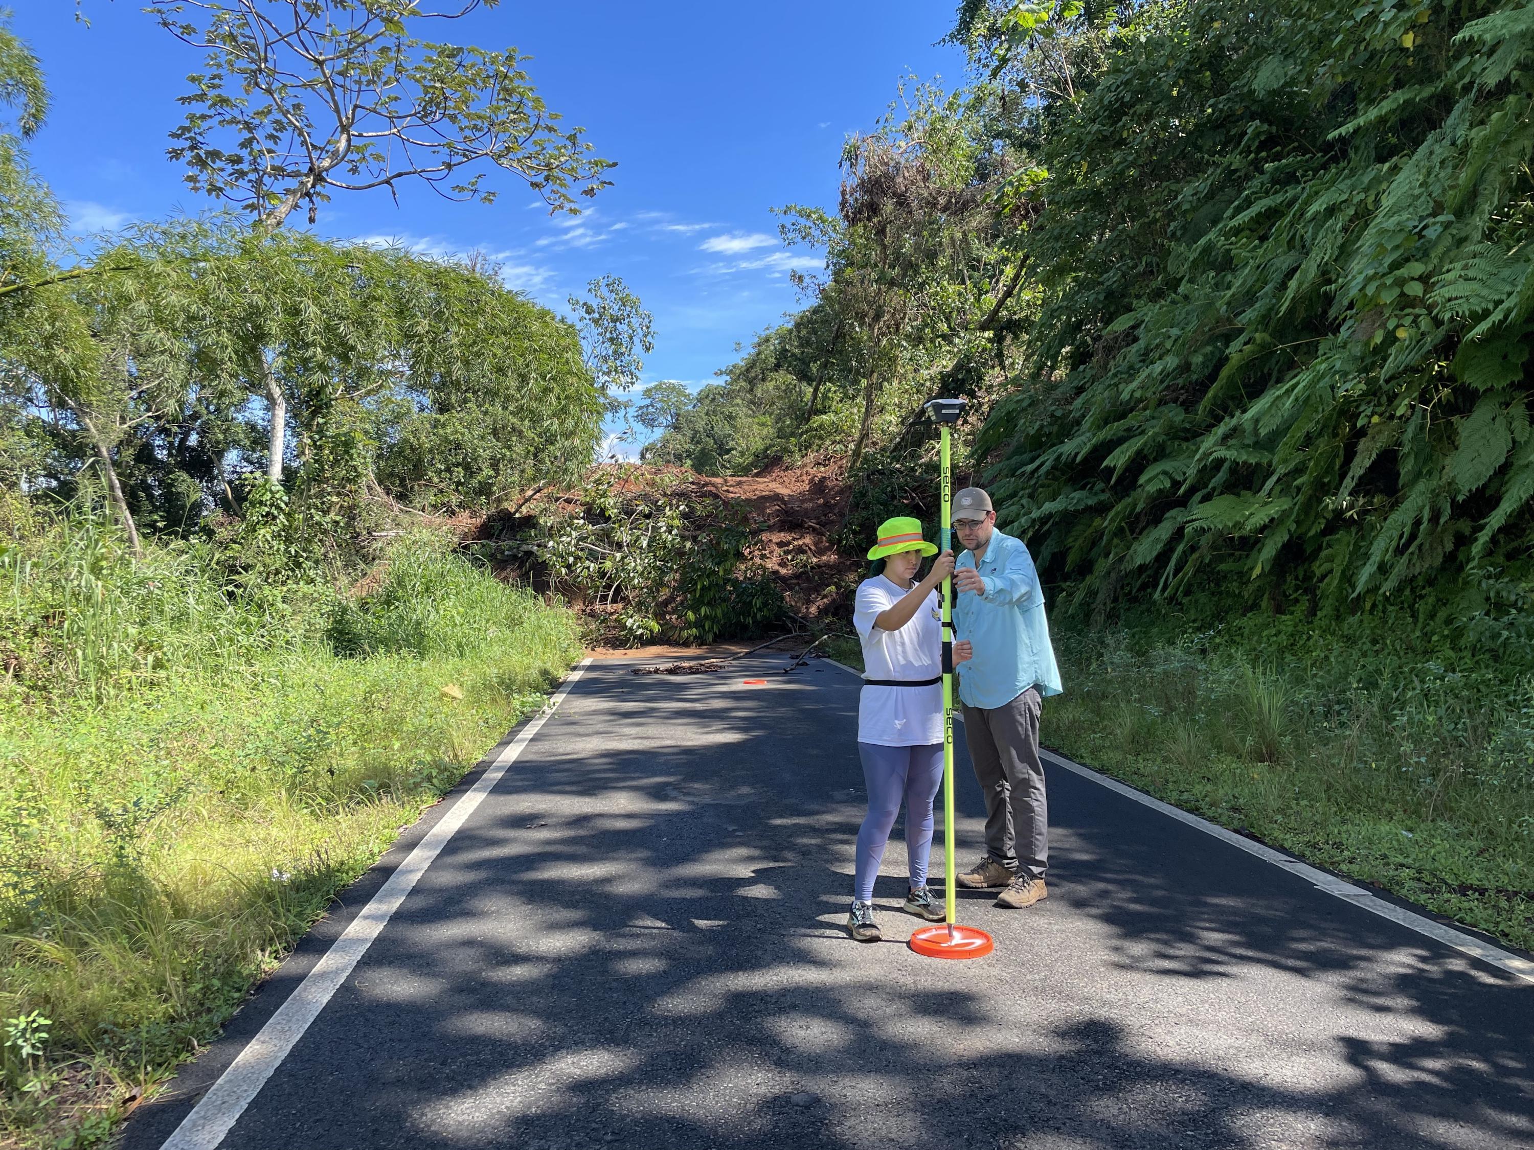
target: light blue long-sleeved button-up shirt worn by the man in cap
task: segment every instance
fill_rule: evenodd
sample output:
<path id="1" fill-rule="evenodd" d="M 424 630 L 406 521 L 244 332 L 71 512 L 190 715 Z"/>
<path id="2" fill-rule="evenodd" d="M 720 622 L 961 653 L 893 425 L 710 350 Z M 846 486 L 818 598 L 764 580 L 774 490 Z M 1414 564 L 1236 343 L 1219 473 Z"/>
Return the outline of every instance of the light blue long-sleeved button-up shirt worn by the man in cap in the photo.
<path id="1" fill-rule="evenodd" d="M 974 552 L 966 550 L 956 566 L 976 567 Z M 954 592 L 954 630 L 974 647 L 974 658 L 959 664 L 959 699 L 994 710 L 1029 687 L 1039 687 L 1040 696 L 1058 695 L 1065 688 L 1034 557 L 1022 540 L 992 531 L 977 570 L 983 595 Z"/>

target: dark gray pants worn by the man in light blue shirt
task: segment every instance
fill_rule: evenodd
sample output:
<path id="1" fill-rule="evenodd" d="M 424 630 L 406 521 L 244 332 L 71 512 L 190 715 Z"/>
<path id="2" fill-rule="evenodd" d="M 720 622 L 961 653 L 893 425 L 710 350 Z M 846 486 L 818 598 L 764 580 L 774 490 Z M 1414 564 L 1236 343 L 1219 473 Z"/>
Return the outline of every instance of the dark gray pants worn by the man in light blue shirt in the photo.
<path id="1" fill-rule="evenodd" d="M 1039 761 L 1039 690 L 1003 707 L 963 707 L 963 738 L 985 791 L 985 849 L 1019 876 L 1043 879 L 1049 866 L 1049 802 Z"/>

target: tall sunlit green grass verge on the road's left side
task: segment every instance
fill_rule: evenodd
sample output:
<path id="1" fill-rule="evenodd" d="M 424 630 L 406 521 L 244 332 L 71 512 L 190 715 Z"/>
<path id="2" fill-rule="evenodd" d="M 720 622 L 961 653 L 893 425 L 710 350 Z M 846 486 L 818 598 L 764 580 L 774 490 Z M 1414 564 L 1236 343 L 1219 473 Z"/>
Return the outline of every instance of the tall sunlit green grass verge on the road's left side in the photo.
<path id="1" fill-rule="evenodd" d="M 109 1136 L 580 655 L 426 537 L 362 598 L 213 560 L 0 552 L 0 1144 Z"/>

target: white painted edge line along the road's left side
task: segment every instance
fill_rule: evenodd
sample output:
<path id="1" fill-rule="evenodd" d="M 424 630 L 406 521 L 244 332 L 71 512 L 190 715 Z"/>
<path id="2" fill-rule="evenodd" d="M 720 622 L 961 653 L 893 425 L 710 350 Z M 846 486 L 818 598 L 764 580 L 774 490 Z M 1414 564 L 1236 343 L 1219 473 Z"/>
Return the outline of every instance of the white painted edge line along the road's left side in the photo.
<path id="1" fill-rule="evenodd" d="M 426 831 L 425 837 L 416 843 L 416 849 L 394 868 L 388 882 L 379 888 L 379 892 L 351 920 L 342 935 L 331 943 L 298 989 L 288 995 L 287 1001 L 261 1027 L 261 1032 L 250 1040 L 230 1067 L 192 1107 L 192 1113 L 181 1121 L 175 1133 L 161 1144 L 161 1150 L 215 1150 L 224 1141 L 239 1115 L 261 1092 L 273 1070 L 282 1064 L 298 1040 L 304 1037 L 310 1023 L 319 1017 L 325 1003 L 347 980 L 357 960 L 399 909 L 399 905 L 405 902 L 405 895 L 410 894 L 420 876 L 426 872 L 426 868 L 485 796 L 500 782 L 506 768 L 517 761 L 517 756 L 538 733 L 545 721 L 554 715 L 554 710 L 565 701 L 571 687 L 589 665 L 589 658 L 575 664 L 543 710 L 522 728 L 522 733 L 512 739 L 506 750 L 495 756 L 479 780 L 453 803 L 453 810 Z"/>

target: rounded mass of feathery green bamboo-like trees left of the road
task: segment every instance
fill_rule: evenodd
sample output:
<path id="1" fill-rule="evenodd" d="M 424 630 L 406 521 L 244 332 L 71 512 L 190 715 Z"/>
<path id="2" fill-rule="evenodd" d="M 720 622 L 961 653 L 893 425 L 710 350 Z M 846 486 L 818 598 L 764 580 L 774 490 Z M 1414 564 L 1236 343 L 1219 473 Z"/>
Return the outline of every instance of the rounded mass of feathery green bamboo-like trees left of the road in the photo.
<path id="1" fill-rule="evenodd" d="M 0 347 L 9 471 L 34 492 L 104 477 L 137 524 L 187 534 L 239 514 L 261 463 L 316 538 L 379 492 L 479 506 L 594 451 L 577 333 L 483 270 L 216 222 L 143 230 L 97 265 L 120 270 L 32 293 L 71 339 L 18 322 Z"/>

